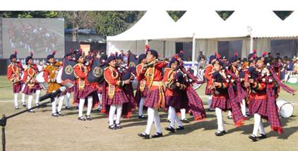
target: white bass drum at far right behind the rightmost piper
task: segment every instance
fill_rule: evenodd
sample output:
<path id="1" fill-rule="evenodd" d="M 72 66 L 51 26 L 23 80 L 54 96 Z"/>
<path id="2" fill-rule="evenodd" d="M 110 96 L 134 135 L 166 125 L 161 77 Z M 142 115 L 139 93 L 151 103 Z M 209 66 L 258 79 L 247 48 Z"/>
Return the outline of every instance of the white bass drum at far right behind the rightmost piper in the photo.
<path id="1" fill-rule="evenodd" d="M 289 118 L 292 116 L 294 107 L 290 102 L 280 99 L 276 102 L 276 105 L 278 106 L 278 114 L 280 114 L 282 118 Z"/>

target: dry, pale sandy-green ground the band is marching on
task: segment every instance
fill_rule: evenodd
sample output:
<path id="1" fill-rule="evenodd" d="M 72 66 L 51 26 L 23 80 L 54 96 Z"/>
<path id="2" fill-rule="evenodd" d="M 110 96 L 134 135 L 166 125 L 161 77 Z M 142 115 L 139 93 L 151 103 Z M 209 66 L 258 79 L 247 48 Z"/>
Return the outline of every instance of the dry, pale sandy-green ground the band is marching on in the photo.
<path id="1" fill-rule="evenodd" d="M 298 90 L 298 85 L 290 85 Z M 208 97 L 203 95 L 205 85 L 198 90 L 207 109 Z M 20 97 L 19 97 L 20 98 Z M 5 76 L 0 76 L 0 114 L 16 113 L 13 109 L 11 83 Z M 162 138 L 143 140 L 137 133 L 145 131 L 146 120 L 138 119 L 137 113 L 131 119 L 121 119 L 121 130 L 107 128 L 107 117 L 104 114 L 91 114 L 92 121 L 78 121 L 76 109 L 63 110 L 64 116 L 54 118 L 51 108 L 36 109 L 36 113 L 25 113 L 9 119 L 6 126 L 6 150 L 298 150 L 297 97 L 282 91 L 279 99 L 294 104 L 294 115 L 281 119 L 284 133 L 270 130 L 265 123 L 268 138 L 251 142 L 248 136 L 252 132 L 254 119 L 245 125 L 234 128 L 233 122 L 224 114 L 227 135 L 217 137 L 216 117 L 214 112 L 207 112 L 207 119 L 185 124 L 185 130 L 168 133 Z M 20 104 L 20 102 L 19 102 Z M 18 110 L 20 111 L 20 110 Z M 162 128 L 167 113 L 160 112 Z M 191 119 L 191 117 L 189 117 Z M 155 128 L 152 128 L 152 134 Z"/>

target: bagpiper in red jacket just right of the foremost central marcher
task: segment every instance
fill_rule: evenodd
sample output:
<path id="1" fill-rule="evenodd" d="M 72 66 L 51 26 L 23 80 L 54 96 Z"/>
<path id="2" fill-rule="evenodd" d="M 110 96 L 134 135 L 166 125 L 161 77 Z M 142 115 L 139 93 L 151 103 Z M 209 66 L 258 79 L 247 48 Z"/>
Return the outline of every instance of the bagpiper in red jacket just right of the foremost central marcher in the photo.
<path id="1" fill-rule="evenodd" d="M 184 83 L 181 83 L 184 80 L 183 73 L 178 72 L 178 61 L 174 57 L 172 57 L 171 61 L 169 61 L 169 67 L 165 68 L 165 74 L 163 77 L 163 81 L 167 87 L 165 90 L 166 104 L 170 114 L 170 123 L 169 127 L 165 128 L 165 130 L 170 131 L 172 133 L 175 132 L 174 124 L 177 123 L 177 131 L 183 130 L 184 127 L 181 124 L 179 117 L 177 116 L 176 111 L 181 109 L 182 107 L 182 90 L 186 88 Z"/>

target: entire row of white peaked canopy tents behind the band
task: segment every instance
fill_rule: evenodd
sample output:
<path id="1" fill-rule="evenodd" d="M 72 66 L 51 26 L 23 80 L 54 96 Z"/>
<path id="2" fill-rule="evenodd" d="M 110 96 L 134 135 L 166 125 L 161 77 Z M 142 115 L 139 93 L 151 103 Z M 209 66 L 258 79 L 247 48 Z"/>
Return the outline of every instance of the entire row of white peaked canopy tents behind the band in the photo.
<path id="1" fill-rule="evenodd" d="M 273 11 L 257 8 L 236 10 L 227 20 L 222 20 L 215 10 L 186 11 L 177 23 L 166 11 L 147 11 L 143 18 L 125 32 L 107 37 L 108 53 L 120 49 L 141 54 L 147 40 L 160 56 L 171 56 L 175 42 L 193 42 L 192 60 L 199 51 L 206 56 L 217 51 L 218 41 L 243 40 L 242 57 L 252 49 L 270 51 L 270 38 L 298 36 L 298 12 L 282 21 Z"/>

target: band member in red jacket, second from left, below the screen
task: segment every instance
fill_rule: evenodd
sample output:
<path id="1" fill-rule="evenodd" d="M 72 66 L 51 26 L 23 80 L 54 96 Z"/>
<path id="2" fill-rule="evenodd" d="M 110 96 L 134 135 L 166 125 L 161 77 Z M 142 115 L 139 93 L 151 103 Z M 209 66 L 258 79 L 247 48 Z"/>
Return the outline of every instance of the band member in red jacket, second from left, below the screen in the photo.
<path id="1" fill-rule="evenodd" d="M 23 83 L 25 83 L 25 88 L 23 93 L 28 95 L 28 109 L 31 108 L 33 94 L 38 89 L 40 90 L 40 85 L 37 83 L 35 77 L 37 75 L 37 66 L 33 63 L 32 59 L 33 53 L 31 52 L 30 56 L 25 58 L 25 62 L 27 68 L 25 68 L 24 76 L 23 76 Z M 32 109 L 29 112 L 34 112 Z"/>

